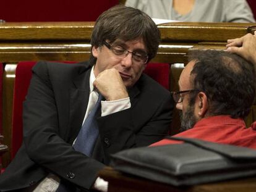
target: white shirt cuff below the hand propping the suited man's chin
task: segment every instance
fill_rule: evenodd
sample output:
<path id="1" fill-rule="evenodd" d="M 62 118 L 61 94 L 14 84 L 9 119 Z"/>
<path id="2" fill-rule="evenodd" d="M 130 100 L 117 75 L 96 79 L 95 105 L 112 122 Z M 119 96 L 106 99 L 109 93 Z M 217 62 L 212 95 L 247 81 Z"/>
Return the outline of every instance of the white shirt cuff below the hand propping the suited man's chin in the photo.
<path id="1" fill-rule="evenodd" d="M 130 108 L 130 98 L 101 101 L 101 117 Z"/>

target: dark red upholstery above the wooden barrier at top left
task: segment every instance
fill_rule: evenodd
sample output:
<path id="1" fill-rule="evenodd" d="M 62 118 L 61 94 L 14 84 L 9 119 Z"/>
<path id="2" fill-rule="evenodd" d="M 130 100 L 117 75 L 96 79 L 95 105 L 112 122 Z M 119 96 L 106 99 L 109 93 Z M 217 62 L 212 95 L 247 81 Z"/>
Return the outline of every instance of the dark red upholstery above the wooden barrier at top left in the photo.
<path id="1" fill-rule="evenodd" d="M 8 0 L 1 1 L 0 19 L 6 22 L 95 21 L 116 4 L 118 0 Z"/>

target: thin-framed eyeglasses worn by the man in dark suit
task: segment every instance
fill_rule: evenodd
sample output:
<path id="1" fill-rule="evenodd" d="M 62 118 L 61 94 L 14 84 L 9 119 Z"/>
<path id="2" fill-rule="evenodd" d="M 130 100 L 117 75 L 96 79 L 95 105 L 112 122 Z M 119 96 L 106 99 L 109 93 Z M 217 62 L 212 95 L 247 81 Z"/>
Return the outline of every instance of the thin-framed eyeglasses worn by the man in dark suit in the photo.
<path id="1" fill-rule="evenodd" d="M 103 44 L 111 50 L 116 56 L 118 56 L 120 59 L 126 57 L 129 53 L 132 54 L 132 59 L 134 59 L 135 62 L 138 62 L 140 64 L 146 64 L 148 61 L 148 55 L 145 52 L 132 52 L 128 51 L 121 46 L 113 46 L 106 41 L 103 41 Z"/>

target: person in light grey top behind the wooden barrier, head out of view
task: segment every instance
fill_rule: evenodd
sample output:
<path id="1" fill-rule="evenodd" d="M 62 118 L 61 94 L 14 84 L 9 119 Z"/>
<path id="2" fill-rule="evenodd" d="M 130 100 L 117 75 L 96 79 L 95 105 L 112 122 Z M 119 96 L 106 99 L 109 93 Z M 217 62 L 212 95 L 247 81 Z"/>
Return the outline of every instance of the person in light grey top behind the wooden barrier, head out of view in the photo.
<path id="1" fill-rule="evenodd" d="M 127 0 L 151 18 L 183 22 L 255 22 L 246 0 Z"/>

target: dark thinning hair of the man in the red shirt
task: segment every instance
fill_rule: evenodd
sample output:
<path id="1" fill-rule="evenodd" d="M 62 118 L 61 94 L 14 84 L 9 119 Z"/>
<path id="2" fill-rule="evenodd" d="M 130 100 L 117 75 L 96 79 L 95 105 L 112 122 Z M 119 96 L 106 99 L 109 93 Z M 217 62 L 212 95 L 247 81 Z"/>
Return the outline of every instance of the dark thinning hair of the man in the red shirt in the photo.
<path id="1" fill-rule="evenodd" d="M 192 51 L 194 88 L 207 94 L 210 115 L 244 118 L 255 98 L 254 65 L 226 51 Z M 195 99 L 191 95 L 191 102 Z"/>

